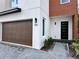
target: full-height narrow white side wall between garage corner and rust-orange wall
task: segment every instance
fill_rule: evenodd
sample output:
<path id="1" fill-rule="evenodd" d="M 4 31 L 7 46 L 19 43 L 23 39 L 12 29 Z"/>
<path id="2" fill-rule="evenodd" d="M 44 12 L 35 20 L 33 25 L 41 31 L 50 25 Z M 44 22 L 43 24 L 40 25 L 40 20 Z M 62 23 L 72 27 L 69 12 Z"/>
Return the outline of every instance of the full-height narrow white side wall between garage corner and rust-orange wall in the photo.
<path id="1" fill-rule="evenodd" d="M 41 35 L 41 43 L 40 43 L 40 47 L 43 46 L 44 44 L 44 40 L 46 38 L 48 38 L 49 36 L 49 0 L 40 0 L 40 16 L 41 16 L 41 31 L 40 31 L 40 35 Z M 45 35 L 43 36 L 43 18 L 45 18 Z"/>

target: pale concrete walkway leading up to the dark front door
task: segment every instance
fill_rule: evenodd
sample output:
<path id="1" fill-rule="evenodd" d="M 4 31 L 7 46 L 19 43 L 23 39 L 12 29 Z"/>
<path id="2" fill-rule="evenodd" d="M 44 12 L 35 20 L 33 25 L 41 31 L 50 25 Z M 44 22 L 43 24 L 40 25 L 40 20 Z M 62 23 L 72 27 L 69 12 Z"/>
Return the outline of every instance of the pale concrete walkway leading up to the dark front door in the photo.
<path id="1" fill-rule="evenodd" d="M 65 43 L 55 43 L 54 48 L 51 47 L 48 53 L 54 56 L 55 59 L 71 59 Z"/>

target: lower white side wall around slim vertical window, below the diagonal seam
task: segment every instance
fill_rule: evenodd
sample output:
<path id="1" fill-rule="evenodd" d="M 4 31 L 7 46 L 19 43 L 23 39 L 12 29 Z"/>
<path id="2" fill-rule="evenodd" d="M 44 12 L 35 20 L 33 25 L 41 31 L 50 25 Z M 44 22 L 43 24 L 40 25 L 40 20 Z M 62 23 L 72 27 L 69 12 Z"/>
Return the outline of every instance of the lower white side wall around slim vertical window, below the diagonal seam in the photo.
<path id="1" fill-rule="evenodd" d="M 43 36 L 43 18 L 45 19 L 45 35 Z M 41 11 L 41 27 L 40 27 L 40 35 L 41 35 L 41 43 L 40 47 L 43 46 L 44 40 L 49 36 L 49 15 Z"/>

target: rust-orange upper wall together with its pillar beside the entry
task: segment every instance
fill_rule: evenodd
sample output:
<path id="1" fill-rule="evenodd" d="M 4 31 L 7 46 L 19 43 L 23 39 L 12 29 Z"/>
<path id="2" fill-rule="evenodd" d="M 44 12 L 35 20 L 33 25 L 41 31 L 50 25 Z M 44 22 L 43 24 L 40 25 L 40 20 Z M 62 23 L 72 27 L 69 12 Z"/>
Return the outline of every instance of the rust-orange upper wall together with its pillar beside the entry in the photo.
<path id="1" fill-rule="evenodd" d="M 70 0 L 70 3 L 60 4 L 60 0 L 49 0 L 49 14 L 50 16 L 74 15 L 73 18 L 73 37 L 78 37 L 78 11 L 77 0 Z"/>

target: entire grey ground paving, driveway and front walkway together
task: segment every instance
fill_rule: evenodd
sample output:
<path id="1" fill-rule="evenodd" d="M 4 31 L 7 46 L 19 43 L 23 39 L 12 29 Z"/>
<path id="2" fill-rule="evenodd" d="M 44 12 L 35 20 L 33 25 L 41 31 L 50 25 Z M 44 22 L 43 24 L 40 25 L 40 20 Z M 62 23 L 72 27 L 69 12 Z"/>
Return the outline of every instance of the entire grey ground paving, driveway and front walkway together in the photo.
<path id="1" fill-rule="evenodd" d="M 0 59 L 72 59 L 64 43 L 56 43 L 48 52 L 0 43 Z"/>

